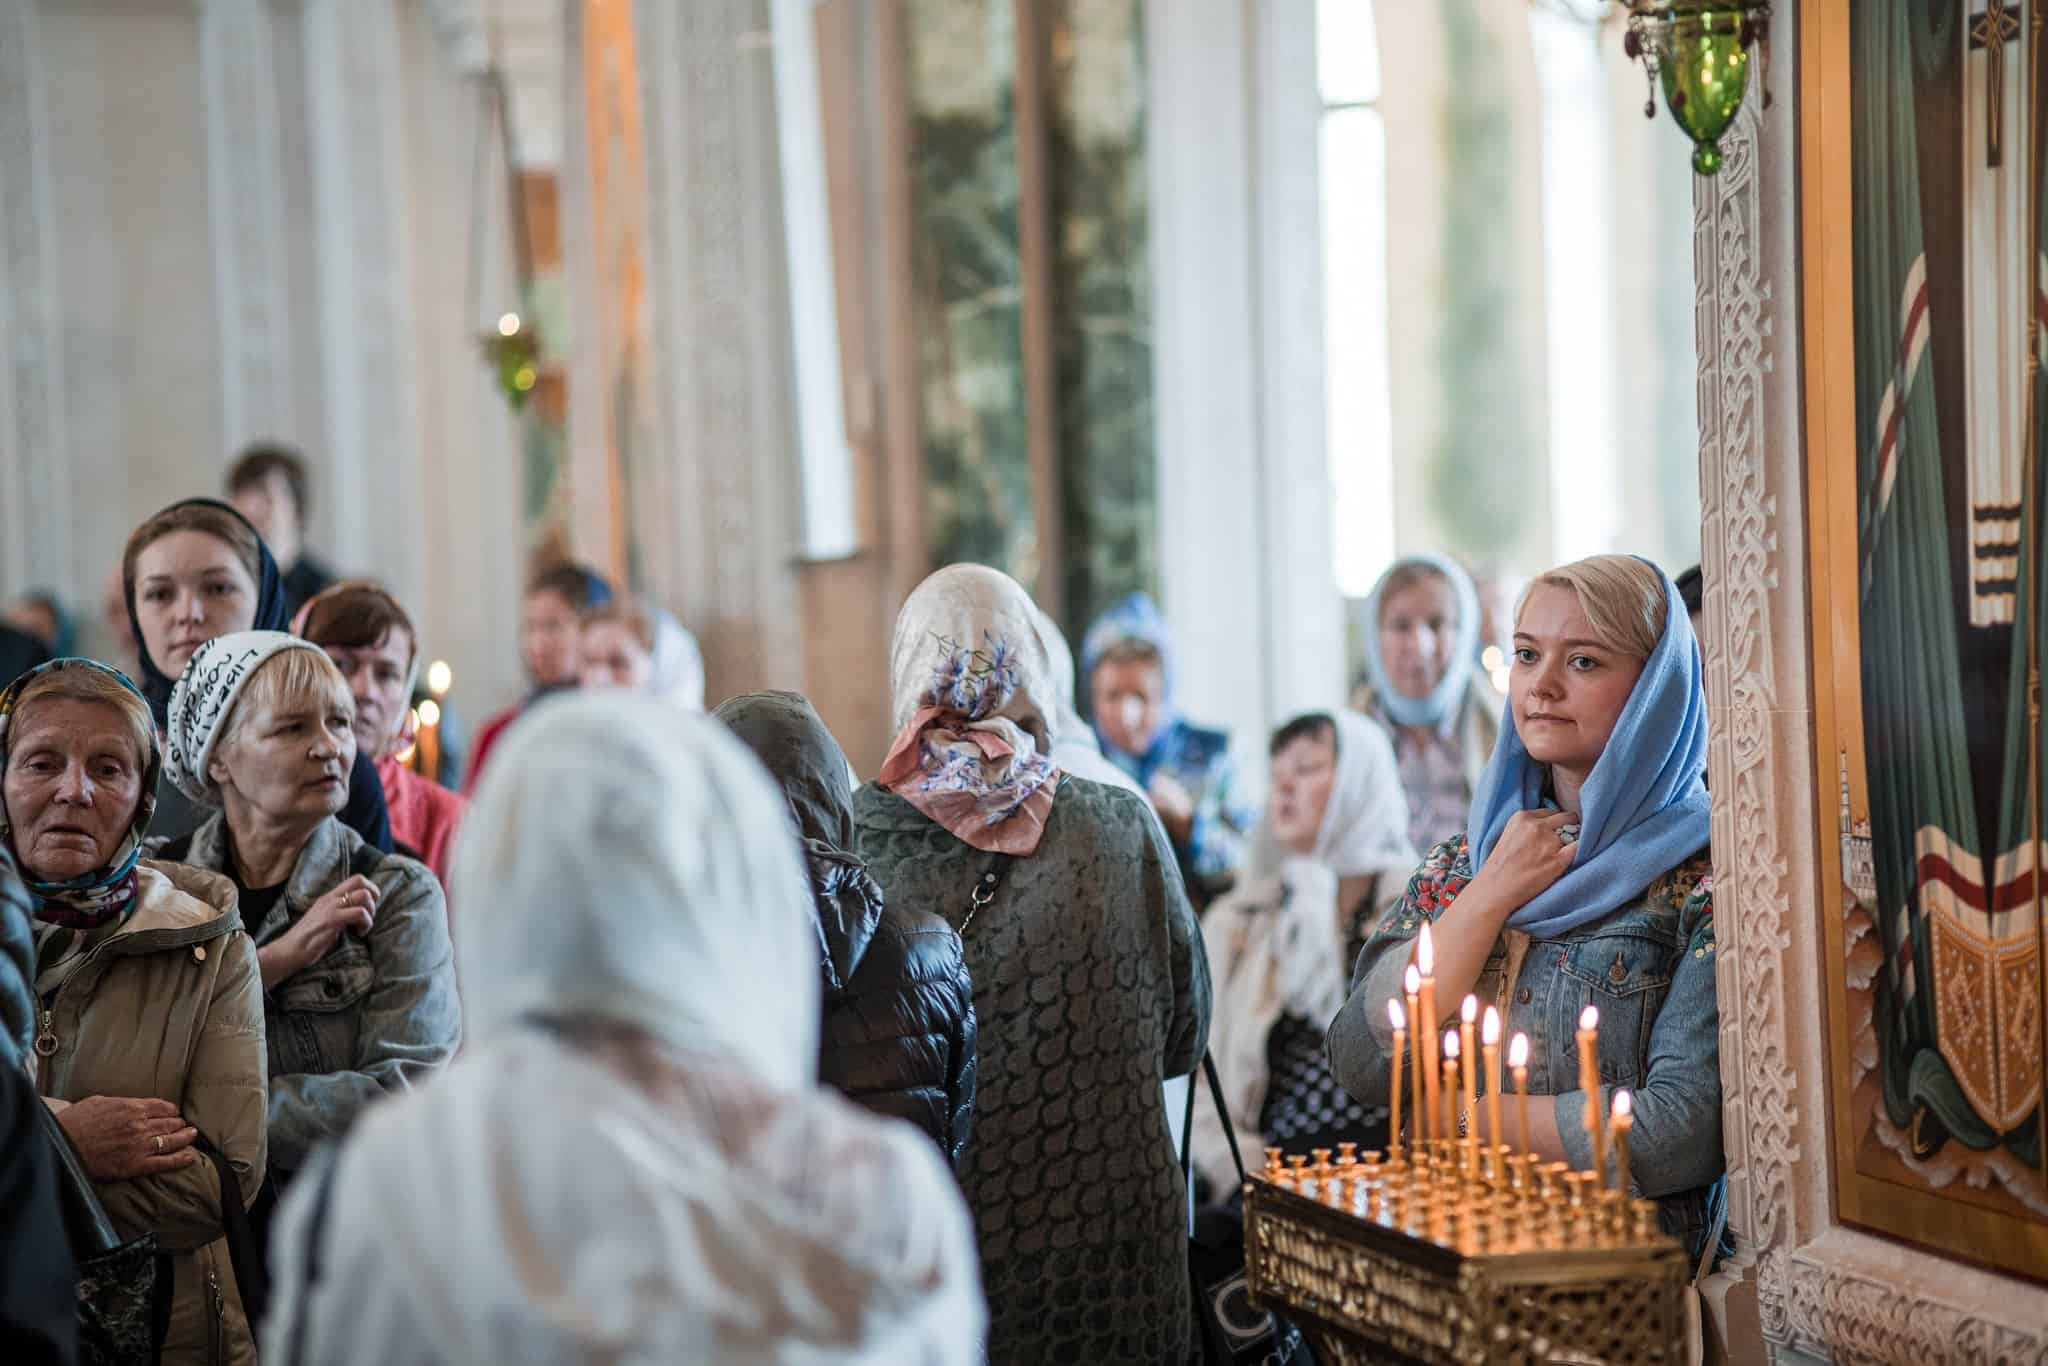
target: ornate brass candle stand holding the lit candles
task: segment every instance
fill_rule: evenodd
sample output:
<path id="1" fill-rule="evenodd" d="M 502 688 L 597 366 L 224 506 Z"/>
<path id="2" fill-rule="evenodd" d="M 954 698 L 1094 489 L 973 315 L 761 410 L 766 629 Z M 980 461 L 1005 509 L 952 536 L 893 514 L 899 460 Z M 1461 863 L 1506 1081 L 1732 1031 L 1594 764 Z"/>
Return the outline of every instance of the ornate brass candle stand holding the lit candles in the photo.
<path id="1" fill-rule="evenodd" d="M 1245 1280 L 1319 1362 L 1677 1362 L 1686 1253 L 1591 1173 L 1448 1139 L 1282 1157 L 1245 1184 Z M 1477 1167 L 1477 1173 L 1475 1173 Z"/>

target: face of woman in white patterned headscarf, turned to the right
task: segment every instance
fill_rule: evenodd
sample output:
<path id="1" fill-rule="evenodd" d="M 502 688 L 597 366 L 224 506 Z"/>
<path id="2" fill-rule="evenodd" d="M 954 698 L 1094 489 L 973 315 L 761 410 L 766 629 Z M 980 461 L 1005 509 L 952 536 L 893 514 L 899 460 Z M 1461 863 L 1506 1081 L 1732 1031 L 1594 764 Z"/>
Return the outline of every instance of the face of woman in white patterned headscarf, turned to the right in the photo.
<path id="1" fill-rule="evenodd" d="M 238 717 L 244 707 L 256 711 Z M 346 696 L 305 692 L 276 705 L 242 698 L 221 725 L 238 721 L 209 766 L 223 795 L 281 823 L 319 823 L 348 805 L 356 715 Z"/>

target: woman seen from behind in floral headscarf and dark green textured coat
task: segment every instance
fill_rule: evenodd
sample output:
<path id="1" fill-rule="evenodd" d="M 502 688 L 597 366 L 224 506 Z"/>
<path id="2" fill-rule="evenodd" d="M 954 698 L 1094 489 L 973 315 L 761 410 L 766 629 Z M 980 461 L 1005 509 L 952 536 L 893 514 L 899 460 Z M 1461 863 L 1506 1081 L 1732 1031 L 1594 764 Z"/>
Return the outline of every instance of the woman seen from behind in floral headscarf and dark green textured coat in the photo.
<path id="1" fill-rule="evenodd" d="M 891 903 L 967 946 L 981 1057 L 961 1186 L 989 1362 L 1182 1366 L 1188 1196 L 1161 1087 L 1202 1059 L 1208 969 L 1174 852 L 1143 799 L 1049 758 L 1051 659 L 1010 578 L 928 578 L 889 672 L 897 735 L 854 797 L 856 842 Z"/>

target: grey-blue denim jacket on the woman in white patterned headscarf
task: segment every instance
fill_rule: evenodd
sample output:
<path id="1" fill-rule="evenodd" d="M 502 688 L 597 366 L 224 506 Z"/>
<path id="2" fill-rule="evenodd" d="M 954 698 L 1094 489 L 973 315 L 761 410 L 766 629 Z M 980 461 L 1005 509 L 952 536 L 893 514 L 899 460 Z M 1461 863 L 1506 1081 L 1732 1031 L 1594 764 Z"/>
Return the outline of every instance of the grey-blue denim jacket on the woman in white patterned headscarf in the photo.
<path id="1" fill-rule="evenodd" d="M 166 856 L 229 872 L 227 819 L 209 817 L 184 850 Z M 272 944 L 324 893 L 354 874 L 377 885 L 367 936 L 342 934 L 328 954 L 264 991 L 270 1053 L 270 1167 L 287 1178 L 328 1139 L 348 1133 L 362 1106 L 426 1081 L 463 1036 L 455 958 L 440 883 L 426 864 L 379 854 L 340 819 L 322 821 L 260 926 Z"/>

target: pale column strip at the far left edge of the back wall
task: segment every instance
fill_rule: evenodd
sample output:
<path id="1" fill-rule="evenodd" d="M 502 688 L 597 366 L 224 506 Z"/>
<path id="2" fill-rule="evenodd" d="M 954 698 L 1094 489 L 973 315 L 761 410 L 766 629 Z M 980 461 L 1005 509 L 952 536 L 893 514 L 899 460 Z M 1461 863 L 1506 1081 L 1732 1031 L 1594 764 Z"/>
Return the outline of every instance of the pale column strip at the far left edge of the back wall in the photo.
<path id="1" fill-rule="evenodd" d="M 0 586 L 16 590 L 76 573 L 47 139 L 35 0 L 0 0 Z"/>

